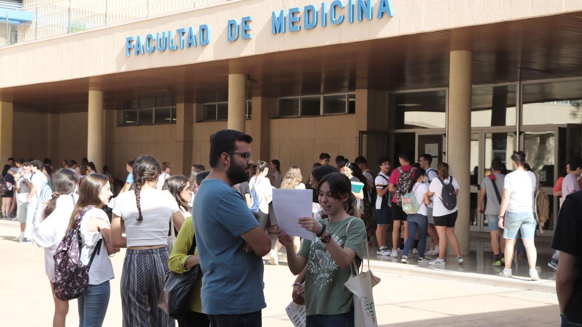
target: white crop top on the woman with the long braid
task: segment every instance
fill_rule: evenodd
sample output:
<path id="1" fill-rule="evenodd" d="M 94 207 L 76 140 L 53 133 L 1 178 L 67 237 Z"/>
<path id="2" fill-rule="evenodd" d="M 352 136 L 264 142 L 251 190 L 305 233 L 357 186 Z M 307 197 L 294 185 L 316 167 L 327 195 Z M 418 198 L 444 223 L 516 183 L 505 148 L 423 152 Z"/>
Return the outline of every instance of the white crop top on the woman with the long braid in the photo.
<path id="1" fill-rule="evenodd" d="M 169 223 L 174 212 L 179 211 L 176 200 L 168 190 L 142 190 L 139 222 L 134 191 L 127 191 L 115 199 L 113 214 L 123 219 L 127 235 L 127 247 L 157 246 L 168 244 Z"/>

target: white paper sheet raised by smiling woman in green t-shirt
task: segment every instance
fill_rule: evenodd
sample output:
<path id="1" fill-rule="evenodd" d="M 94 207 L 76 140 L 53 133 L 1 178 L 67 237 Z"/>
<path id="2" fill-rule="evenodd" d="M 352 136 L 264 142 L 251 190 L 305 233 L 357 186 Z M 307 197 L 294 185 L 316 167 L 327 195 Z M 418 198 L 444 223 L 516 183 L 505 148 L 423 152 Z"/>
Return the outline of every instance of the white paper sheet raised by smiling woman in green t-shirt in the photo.
<path id="1" fill-rule="evenodd" d="M 301 228 L 298 219 L 311 217 L 313 190 L 273 189 L 273 209 L 279 229 L 288 235 L 313 241 L 313 233 Z"/>

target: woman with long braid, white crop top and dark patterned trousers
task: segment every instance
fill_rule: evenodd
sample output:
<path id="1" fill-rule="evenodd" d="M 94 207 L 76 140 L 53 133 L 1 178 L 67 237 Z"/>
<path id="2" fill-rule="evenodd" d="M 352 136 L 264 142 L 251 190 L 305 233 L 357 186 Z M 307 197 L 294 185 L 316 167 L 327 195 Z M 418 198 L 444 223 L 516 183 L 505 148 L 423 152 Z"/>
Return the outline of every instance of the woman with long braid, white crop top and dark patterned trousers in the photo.
<path id="1" fill-rule="evenodd" d="M 113 206 L 111 238 L 114 247 L 127 247 L 121 276 L 123 326 L 174 326 L 158 308 L 168 273 L 168 230 L 184 216 L 169 191 L 158 190 L 159 162 L 142 155 L 133 164 L 134 190 L 120 194 Z M 127 238 L 122 237 L 125 228 Z"/>

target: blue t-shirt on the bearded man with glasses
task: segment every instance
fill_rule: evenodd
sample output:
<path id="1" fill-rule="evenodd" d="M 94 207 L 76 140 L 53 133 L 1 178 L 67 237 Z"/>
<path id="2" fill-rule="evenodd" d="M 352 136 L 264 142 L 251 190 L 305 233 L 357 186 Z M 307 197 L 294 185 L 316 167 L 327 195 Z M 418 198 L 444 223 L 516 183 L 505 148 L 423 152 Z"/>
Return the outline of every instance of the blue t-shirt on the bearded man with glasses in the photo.
<path id="1" fill-rule="evenodd" d="M 258 226 L 243 197 L 218 179 L 205 179 L 192 208 L 202 268 L 202 311 L 246 314 L 267 307 L 262 258 L 243 250 L 240 234 Z"/>

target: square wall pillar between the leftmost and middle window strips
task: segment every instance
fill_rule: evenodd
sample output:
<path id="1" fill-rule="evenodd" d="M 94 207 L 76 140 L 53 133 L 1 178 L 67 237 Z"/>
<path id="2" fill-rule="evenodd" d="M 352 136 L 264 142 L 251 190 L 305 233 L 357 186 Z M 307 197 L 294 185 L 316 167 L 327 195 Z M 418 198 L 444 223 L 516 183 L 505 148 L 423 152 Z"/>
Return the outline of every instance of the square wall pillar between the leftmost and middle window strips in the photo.
<path id="1" fill-rule="evenodd" d="M 174 173 L 190 176 L 192 165 L 192 127 L 194 124 L 194 104 L 176 105 L 176 142 L 179 144 L 178 162 L 172 162 Z"/>

